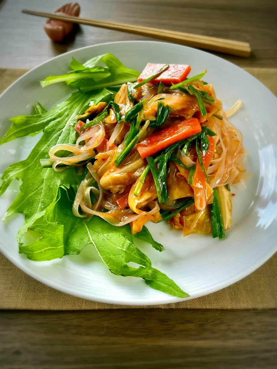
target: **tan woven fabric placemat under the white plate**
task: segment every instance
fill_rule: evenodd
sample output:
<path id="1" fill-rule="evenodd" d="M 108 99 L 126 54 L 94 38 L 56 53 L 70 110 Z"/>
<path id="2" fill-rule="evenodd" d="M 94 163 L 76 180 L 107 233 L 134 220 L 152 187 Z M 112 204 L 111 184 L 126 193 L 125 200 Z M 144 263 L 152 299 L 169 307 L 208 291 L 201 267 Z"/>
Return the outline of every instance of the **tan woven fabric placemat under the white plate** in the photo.
<path id="1" fill-rule="evenodd" d="M 277 69 L 245 68 L 277 95 Z M 0 92 L 27 70 L 0 69 Z M 0 308 L 36 310 L 85 310 L 146 308 L 103 304 L 69 296 L 38 282 L 0 254 Z M 277 308 L 277 254 L 255 272 L 223 290 L 155 308 L 248 309 Z"/>

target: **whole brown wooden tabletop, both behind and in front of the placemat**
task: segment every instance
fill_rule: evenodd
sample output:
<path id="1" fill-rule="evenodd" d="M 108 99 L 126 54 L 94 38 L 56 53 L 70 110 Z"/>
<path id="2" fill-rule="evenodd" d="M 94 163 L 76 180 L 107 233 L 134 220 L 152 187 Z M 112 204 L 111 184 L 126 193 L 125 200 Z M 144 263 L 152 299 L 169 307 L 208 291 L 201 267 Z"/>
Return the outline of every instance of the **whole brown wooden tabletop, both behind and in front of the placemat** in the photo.
<path id="1" fill-rule="evenodd" d="M 250 42 L 239 66 L 277 67 L 276 0 L 82 0 L 81 15 Z M 146 39 L 76 27 L 59 44 L 44 19 L 57 0 L 0 0 L 0 67 L 33 68 L 53 56 L 101 42 Z M 219 55 L 219 54 L 217 54 Z M 276 368 L 277 311 L 1 311 L 1 369 Z"/>

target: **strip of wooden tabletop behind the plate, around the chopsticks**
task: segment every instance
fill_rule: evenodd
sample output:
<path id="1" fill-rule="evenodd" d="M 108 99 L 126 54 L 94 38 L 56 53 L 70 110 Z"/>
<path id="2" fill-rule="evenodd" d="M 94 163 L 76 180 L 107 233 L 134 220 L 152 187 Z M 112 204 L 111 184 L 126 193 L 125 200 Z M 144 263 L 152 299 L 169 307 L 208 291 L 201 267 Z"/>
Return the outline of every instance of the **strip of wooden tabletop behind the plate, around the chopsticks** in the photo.
<path id="1" fill-rule="evenodd" d="M 239 66 L 276 67 L 276 0 L 82 0 L 81 16 L 211 37 L 252 46 L 250 58 L 220 55 Z M 33 68 L 53 56 L 83 46 L 119 40 L 149 39 L 124 32 L 81 26 L 59 44 L 43 30 L 44 19 L 21 9 L 54 11 L 58 0 L 3 0 L 0 10 L 0 67 Z"/>

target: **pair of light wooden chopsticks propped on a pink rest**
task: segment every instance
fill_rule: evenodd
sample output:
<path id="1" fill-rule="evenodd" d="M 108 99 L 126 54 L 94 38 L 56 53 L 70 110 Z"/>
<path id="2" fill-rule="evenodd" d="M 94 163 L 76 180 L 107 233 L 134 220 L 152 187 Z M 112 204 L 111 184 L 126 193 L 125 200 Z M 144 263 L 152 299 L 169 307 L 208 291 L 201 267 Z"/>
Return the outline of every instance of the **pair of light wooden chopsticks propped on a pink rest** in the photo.
<path id="1" fill-rule="evenodd" d="M 107 28 L 109 30 L 122 31 L 136 35 L 157 38 L 164 41 L 175 42 L 182 45 L 224 52 L 226 54 L 244 56 L 246 58 L 250 55 L 251 52 L 250 44 L 248 44 L 247 42 L 233 41 L 224 38 L 194 35 L 190 33 L 176 31 L 160 30 L 158 28 L 100 21 L 89 18 L 72 17 L 70 15 L 65 14 L 61 15 L 57 13 L 45 13 L 42 11 L 33 11 L 24 9 L 22 10 L 22 13 L 37 15 L 38 17 L 57 19 L 65 22 L 91 25 L 99 28 Z"/>

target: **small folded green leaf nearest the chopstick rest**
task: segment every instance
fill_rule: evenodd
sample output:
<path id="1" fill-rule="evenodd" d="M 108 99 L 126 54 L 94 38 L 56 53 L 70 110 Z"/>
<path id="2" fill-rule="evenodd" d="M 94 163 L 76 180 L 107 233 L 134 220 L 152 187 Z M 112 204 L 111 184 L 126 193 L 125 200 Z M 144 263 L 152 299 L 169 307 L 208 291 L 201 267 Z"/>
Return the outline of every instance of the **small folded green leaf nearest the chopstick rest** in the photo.
<path id="1" fill-rule="evenodd" d="M 99 62 L 105 63 L 107 68 L 97 66 Z M 140 75 L 136 70 L 126 68 L 114 55 L 109 53 L 96 56 L 85 64 L 72 58 L 70 68 L 73 69 L 73 72 L 62 76 L 51 75 L 41 80 L 41 86 L 46 87 L 53 83 L 66 82 L 79 90 L 90 91 L 133 82 Z"/>

